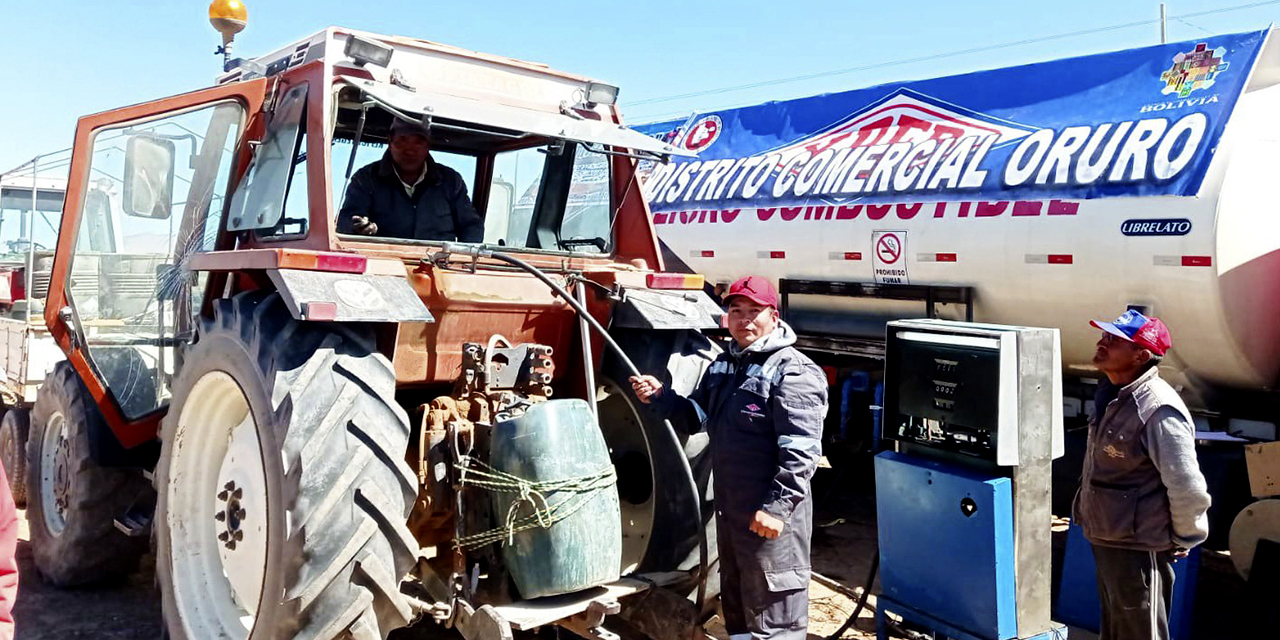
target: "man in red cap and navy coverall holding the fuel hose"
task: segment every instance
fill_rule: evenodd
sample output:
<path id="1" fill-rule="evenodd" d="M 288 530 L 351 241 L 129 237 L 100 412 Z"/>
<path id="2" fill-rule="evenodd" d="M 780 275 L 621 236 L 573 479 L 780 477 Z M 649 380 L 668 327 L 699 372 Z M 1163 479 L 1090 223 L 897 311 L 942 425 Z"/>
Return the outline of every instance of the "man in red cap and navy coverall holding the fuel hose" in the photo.
<path id="1" fill-rule="evenodd" d="M 792 347 L 769 280 L 724 294 L 733 338 L 685 398 L 644 375 L 641 402 L 710 435 L 721 604 L 731 640 L 804 640 L 809 611 L 809 480 L 822 456 L 827 379 Z"/>

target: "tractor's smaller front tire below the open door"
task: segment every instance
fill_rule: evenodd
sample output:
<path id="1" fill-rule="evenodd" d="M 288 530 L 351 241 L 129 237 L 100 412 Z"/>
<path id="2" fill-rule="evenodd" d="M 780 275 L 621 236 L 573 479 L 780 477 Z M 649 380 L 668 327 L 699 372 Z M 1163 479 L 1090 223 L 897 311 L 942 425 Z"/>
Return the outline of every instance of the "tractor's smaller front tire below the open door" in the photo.
<path id="1" fill-rule="evenodd" d="M 32 556 L 40 575 L 56 586 L 119 580 L 137 570 L 150 547 L 146 536 L 129 538 L 115 527 L 115 518 L 151 486 L 140 468 L 93 462 L 90 434 L 108 433 L 101 422 L 79 375 L 59 362 L 40 388 L 27 436 Z"/>

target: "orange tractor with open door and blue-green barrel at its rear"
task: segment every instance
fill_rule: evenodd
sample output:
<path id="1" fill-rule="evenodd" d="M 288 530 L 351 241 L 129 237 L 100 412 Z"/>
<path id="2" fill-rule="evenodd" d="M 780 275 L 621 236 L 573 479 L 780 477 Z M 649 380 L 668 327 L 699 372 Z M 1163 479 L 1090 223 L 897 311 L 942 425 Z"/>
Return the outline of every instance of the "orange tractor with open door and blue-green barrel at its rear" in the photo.
<path id="1" fill-rule="evenodd" d="M 682 151 L 543 64 L 346 28 L 227 51 L 209 88 L 77 124 L 44 315 L 67 357 L 26 442 L 38 571 L 154 552 L 175 640 L 687 637 L 717 589 L 707 439 L 627 384 L 689 392 L 719 349 L 637 183 Z M 338 230 L 397 119 L 481 242 Z"/>

